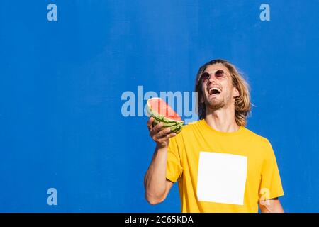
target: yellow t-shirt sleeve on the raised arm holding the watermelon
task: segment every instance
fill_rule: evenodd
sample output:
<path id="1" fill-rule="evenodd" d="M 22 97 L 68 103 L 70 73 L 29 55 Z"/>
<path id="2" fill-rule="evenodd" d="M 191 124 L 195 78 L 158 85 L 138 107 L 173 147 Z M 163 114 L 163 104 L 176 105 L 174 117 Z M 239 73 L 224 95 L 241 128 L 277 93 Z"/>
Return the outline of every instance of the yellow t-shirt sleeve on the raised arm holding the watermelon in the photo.
<path id="1" fill-rule="evenodd" d="M 169 146 L 167 148 L 166 178 L 171 182 L 177 182 L 183 172 L 183 167 L 181 167 L 181 157 L 179 155 L 182 144 L 177 142 L 179 137 L 180 134 L 170 138 Z"/>

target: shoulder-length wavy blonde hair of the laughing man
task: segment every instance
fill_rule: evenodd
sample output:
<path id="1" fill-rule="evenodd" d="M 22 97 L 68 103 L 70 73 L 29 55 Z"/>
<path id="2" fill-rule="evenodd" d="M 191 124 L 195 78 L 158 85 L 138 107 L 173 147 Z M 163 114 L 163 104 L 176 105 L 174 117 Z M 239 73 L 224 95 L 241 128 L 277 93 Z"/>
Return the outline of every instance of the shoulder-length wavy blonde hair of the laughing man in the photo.
<path id="1" fill-rule="evenodd" d="M 252 109 L 252 104 L 250 103 L 250 87 L 249 84 L 245 81 L 245 79 L 240 75 L 237 71 L 236 67 L 232 65 L 230 62 L 226 60 L 216 59 L 207 62 L 205 65 L 201 66 L 196 75 L 196 85 L 195 91 L 198 92 L 197 98 L 197 108 L 198 108 L 198 116 L 200 119 L 205 118 L 206 116 L 206 106 L 202 100 L 202 90 L 201 90 L 201 74 L 206 70 L 208 65 L 214 65 L 221 63 L 225 67 L 228 68 L 230 72 L 230 76 L 232 77 L 233 86 L 237 88 L 239 92 L 239 96 L 235 97 L 235 121 L 238 126 L 246 126 L 247 124 L 247 116 L 249 116 L 250 111 Z"/>

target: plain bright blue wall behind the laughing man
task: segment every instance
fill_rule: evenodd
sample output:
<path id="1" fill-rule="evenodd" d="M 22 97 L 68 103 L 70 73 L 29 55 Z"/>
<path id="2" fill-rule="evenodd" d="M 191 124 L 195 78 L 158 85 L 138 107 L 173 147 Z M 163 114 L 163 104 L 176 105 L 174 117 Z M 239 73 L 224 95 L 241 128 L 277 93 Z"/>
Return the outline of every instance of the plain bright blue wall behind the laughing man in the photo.
<path id="1" fill-rule="evenodd" d="M 57 4 L 57 21 L 47 5 Z M 270 6 L 261 21 L 259 6 Z M 225 58 L 252 87 L 286 211 L 319 211 L 319 2 L 0 1 L 0 211 L 180 211 L 144 199 L 155 144 L 125 91 L 192 91 Z M 57 206 L 47 189 L 57 189 Z"/>

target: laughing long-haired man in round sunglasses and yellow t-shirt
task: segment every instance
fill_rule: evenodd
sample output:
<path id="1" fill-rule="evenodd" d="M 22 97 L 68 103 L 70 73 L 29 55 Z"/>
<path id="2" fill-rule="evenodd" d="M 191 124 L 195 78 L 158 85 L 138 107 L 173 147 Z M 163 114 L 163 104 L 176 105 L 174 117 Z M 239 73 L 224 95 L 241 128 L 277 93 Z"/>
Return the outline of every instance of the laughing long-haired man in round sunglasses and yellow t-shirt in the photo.
<path id="1" fill-rule="evenodd" d="M 158 204 L 179 183 L 182 212 L 284 212 L 284 195 L 272 145 L 245 128 L 248 84 L 234 65 L 212 60 L 196 77 L 199 121 L 170 133 L 152 127 L 157 143 L 145 175 L 145 198 Z"/>

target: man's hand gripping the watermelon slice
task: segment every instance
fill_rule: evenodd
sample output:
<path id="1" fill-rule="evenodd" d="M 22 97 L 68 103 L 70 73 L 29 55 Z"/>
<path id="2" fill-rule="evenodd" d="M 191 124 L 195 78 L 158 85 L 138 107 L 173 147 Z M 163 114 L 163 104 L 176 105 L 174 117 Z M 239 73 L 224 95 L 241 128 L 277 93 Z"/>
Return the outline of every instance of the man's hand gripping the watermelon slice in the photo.
<path id="1" fill-rule="evenodd" d="M 147 121 L 147 128 L 150 131 L 150 137 L 157 143 L 157 148 L 165 148 L 169 145 L 169 138 L 172 138 L 176 133 L 171 133 L 170 128 L 163 128 L 163 123 L 158 123 L 152 126 L 154 118 L 150 117 Z"/>

